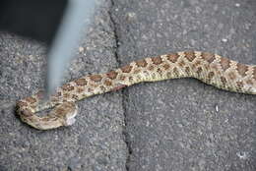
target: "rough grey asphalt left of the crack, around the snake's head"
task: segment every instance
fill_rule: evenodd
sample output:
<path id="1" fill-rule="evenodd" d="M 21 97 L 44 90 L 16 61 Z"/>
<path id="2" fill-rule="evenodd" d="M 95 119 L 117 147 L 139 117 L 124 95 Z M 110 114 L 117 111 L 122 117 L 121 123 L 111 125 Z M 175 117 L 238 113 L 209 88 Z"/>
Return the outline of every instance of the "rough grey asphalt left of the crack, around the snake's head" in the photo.
<path id="1" fill-rule="evenodd" d="M 82 38 L 65 82 L 116 67 L 115 39 L 108 15 L 110 3 L 101 1 L 95 21 Z M 86 34 L 85 34 L 86 35 Z M 73 127 L 41 132 L 15 117 L 15 101 L 42 86 L 44 44 L 0 34 L 0 170 L 125 170 L 122 98 L 108 93 L 79 103 Z"/>

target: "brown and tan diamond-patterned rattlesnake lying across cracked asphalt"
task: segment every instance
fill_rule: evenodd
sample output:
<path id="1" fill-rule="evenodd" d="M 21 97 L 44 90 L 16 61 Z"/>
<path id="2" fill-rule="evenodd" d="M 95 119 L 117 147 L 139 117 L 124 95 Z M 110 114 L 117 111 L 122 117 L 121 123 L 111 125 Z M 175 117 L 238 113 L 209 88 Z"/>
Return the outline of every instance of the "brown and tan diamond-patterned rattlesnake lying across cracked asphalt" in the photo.
<path id="1" fill-rule="evenodd" d="M 184 51 L 141 59 L 108 73 L 82 77 L 59 87 L 43 104 L 40 103 L 42 91 L 38 91 L 17 102 L 17 113 L 35 129 L 68 126 L 75 122 L 78 100 L 142 82 L 176 78 L 195 78 L 225 90 L 256 94 L 255 65 L 208 52 Z M 48 108 L 53 108 L 48 114 L 35 115 Z"/>

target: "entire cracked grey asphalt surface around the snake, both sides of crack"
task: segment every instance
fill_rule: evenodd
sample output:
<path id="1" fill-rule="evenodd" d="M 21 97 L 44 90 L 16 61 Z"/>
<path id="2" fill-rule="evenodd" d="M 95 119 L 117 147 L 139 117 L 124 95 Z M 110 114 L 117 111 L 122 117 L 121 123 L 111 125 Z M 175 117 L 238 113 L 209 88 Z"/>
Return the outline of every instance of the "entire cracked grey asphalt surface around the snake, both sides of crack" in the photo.
<path id="1" fill-rule="evenodd" d="M 255 9 L 253 0 L 102 1 L 64 80 L 186 49 L 256 64 Z M 70 128 L 22 124 L 15 100 L 41 87 L 45 54 L 0 34 L 0 170 L 256 170 L 256 97 L 192 79 L 83 100 Z"/>

